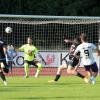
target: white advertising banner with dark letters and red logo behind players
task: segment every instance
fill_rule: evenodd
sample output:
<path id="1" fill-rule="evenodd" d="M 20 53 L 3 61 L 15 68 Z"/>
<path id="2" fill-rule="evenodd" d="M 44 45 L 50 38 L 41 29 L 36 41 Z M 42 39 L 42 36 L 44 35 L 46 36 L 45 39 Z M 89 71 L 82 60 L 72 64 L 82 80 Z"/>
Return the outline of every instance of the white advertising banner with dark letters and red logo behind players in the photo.
<path id="1" fill-rule="evenodd" d="M 58 67 L 59 65 L 68 62 L 68 53 L 67 52 L 40 52 L 46 64 L 43 63 L 42 59 L 37 57 L 37 59 L 44 64 L 44 67 Z M 99 57 L 94 53 L 94 58 L 99 65 Z M 14 67 L 23 67 L 24 66 L 24 53 L 17 52 L 17 56 L 13 59 Z M 83 67 L 83 64 L 80 63 L 80 67 Z"/>

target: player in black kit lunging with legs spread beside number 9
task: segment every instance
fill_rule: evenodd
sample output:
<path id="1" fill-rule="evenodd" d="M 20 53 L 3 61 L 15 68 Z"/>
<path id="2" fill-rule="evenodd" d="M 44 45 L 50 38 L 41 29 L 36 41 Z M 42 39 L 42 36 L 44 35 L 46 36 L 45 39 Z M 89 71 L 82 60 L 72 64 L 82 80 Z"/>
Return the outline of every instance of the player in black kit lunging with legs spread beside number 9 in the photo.
<path id="1" fill-rule="evenodd" d="M 84 79 L 84 81 L 87 83 L 88 79 L 85 78 L 84 75 L 82 75 L 81 73 L 77 72 L 77 67 L 78 67 L 78 63 L 79 63 L 79 54 L 77 54 L 77 56 L 74 56 L 74 51 L 76 49 L 76 47 L 79 45 L 78 39 L 74 39 L 74 41 L 70 41 L 68 39 L 64 40 L 66 43 L 72 43 L 70 50 L 69 50 L 69 61 L 65 64 L 62 64 L 58 67 L 57 70 L 57 74 L 54 80 L 50 80 L 48 81 L 49 83 L 51 82 L 57 82 L 61 76 L 62 70 L 63 69 L 67 69 L 67 73 L 68 74 L 72 74 L 72 75 L 76 75 L 82 79 Z"/>

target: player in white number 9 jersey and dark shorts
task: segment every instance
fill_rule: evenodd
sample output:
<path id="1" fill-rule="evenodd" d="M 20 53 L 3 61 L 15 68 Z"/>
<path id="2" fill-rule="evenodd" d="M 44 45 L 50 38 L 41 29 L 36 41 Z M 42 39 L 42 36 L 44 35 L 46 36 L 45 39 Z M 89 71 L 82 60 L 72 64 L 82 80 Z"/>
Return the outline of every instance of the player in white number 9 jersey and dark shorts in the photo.
<path id="1" fill-rule="evenodd" d="M 87 77 L 92 82 L 92 84 L 95 84 L 94 78 L 98 74 L 98 67 L 93 57 L 93 51 L 96 50 L 98 55 L 100 54 L 100 51 L 93 43 L 87 42 L 87 37 L 85 34 L 81 34 L 80 39 L 82 43 L 76 48 L 74 55 L 76 55 L 78 52 L 80 53 L 80 56 L 82 57 L 82 64 L 84 65 L 87 72 Z"/>

